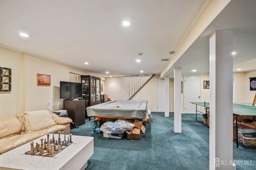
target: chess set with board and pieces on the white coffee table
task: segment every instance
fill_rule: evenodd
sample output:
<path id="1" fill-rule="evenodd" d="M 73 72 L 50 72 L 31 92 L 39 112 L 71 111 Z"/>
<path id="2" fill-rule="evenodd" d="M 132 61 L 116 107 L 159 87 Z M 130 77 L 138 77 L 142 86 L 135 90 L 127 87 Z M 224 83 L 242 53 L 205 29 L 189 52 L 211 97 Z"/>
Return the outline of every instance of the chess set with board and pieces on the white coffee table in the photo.
<path id="1" fill-rule="evenodd" d="M 30 143 L 30 151 L 25 152 L 25 154 L 53 157 L 73 143 L 72 134 L 70 134 L 68 136 L 68 140 L 66 140 L 65 131 L 64 140 L 62 141 L 60 139 L 60 131 L 58 131 L 58 133 L 58 140 L 54 139 L 54 134 L 52 134 L 52 139 L 50 139 L 50 134 L 47 134 L 47 141 L 46 139 L 40 139 L 41 145 L 39 143 L 36 143 L 36 146 L 34 147 L 34 141 L 32 141 Z"/>

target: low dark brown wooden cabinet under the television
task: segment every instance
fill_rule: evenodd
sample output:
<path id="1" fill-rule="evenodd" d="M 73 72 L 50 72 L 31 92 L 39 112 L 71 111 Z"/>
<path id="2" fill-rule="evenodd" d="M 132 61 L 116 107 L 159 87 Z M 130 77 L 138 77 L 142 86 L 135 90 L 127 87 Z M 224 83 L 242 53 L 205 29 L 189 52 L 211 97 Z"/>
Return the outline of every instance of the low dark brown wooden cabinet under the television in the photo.
<path id="1" fill-rule="evenodd" d="M 64 100 L 64 109 L 75 126 L 85 123 L 85 100 Z"/>

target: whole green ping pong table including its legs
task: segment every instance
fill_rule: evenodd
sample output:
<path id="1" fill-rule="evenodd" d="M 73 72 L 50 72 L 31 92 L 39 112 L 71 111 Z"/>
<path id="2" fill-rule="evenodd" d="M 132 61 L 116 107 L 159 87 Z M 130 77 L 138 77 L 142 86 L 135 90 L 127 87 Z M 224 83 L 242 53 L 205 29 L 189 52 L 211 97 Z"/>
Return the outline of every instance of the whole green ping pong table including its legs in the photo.
<path id="1" fill-rule="evenodd" d="M 207 118 L 207 109 L 210 108 L 209 102 L 190 102 L 196 105 L 196 120 L 197 112 L 204 113 L 198 110 L 197 106 L 205 107 L 205 119 Z M 236 115 L 236 147 L 238 147 L 238 116 L 256 116 L 256 103 L 233 103 L 233 115 Z"/>

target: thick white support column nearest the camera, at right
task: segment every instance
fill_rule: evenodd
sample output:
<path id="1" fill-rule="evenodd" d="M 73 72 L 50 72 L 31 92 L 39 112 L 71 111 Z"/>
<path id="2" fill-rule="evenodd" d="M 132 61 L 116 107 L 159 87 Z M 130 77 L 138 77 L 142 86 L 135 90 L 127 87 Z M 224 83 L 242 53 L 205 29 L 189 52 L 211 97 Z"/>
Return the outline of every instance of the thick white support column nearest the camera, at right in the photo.
<path id="1" fill-rule="evenodd" d="M 210 37 L 210 170 L 232 170 L 233 30 Z"/>

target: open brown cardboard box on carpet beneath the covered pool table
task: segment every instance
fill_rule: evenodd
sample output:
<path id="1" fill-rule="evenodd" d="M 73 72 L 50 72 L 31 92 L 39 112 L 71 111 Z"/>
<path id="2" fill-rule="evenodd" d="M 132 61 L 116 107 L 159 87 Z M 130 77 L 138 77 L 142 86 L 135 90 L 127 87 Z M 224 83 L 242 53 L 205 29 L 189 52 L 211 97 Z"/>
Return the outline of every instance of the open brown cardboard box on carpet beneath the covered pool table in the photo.
<path id="1" fill-rule="evenodd" d="M 130 134 L 127 133 L 127 139 L 135 139 L 140 140 L 142 133 L 145 133 L 146 129 L 142 125 L 142 121 L 134 120 L 134 129 L 128 131 Z"/>

